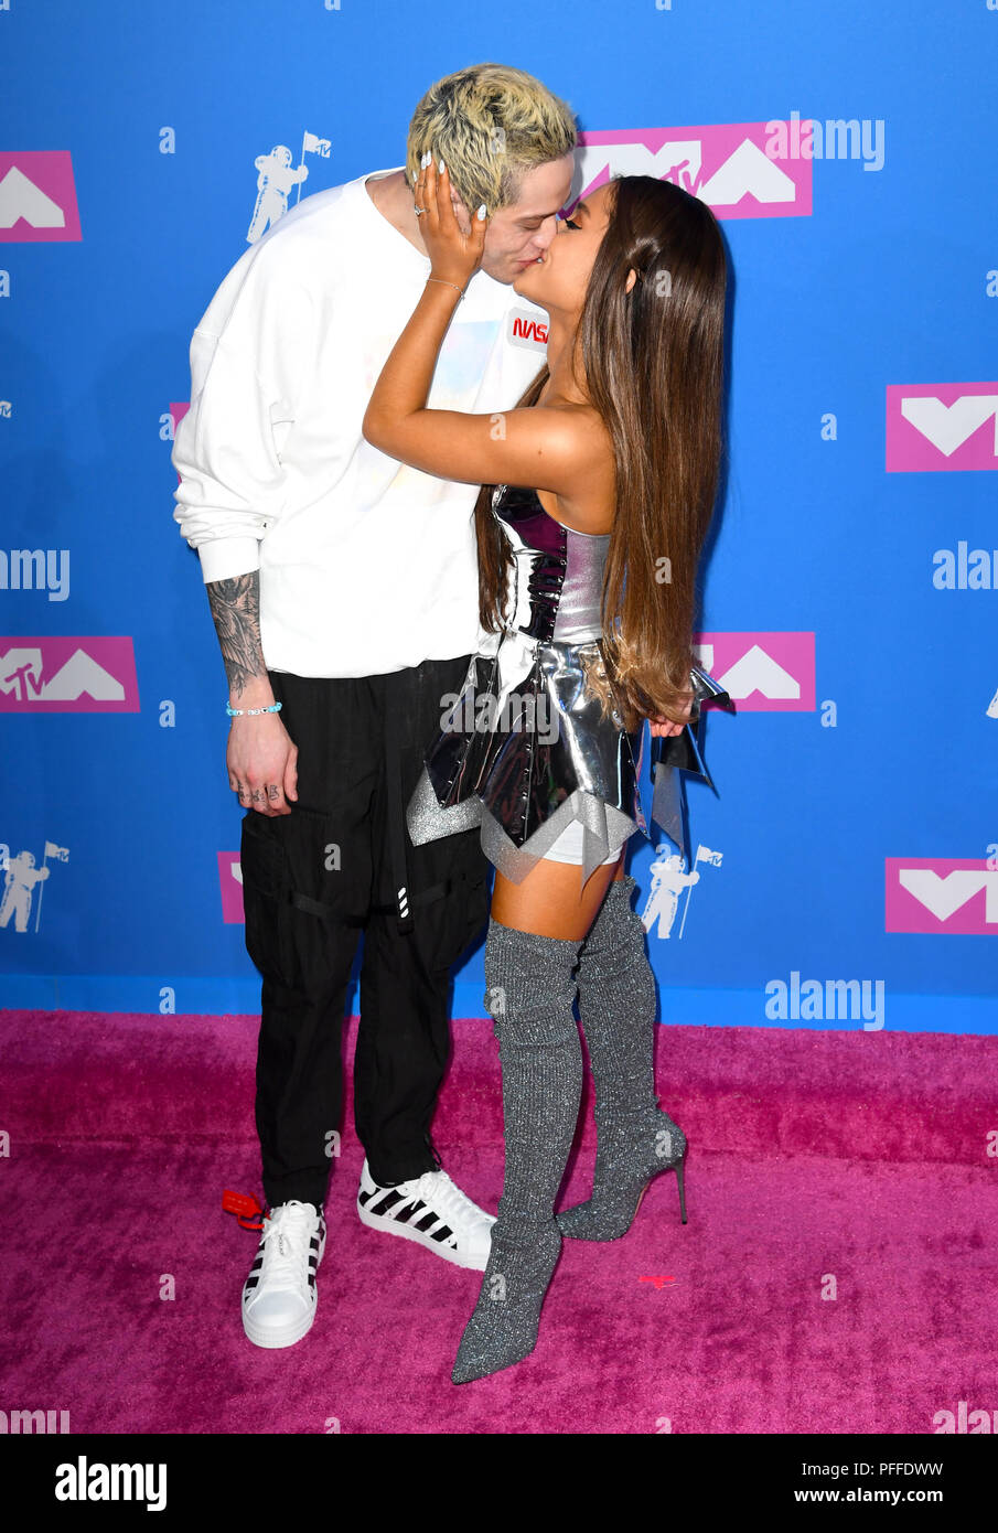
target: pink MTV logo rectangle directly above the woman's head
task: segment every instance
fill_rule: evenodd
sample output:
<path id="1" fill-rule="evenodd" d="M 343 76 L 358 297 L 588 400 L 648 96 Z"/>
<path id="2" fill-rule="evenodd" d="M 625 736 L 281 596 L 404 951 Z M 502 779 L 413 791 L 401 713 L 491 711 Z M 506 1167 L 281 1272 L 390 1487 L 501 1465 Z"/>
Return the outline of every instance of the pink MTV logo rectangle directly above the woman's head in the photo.
<path id="1" fill-rule="evenodd" d="M 777 127 L 806 123 L 710 123 L 704 127 L 647 127 L 579 133 L 576 166 L 587 196 L 610 176 L 673 181 L 717 218 L 797 218 L 811 212 L 811 164 L 771 158 Z M 767 152 L 770 146 L 770 152 Z"/>

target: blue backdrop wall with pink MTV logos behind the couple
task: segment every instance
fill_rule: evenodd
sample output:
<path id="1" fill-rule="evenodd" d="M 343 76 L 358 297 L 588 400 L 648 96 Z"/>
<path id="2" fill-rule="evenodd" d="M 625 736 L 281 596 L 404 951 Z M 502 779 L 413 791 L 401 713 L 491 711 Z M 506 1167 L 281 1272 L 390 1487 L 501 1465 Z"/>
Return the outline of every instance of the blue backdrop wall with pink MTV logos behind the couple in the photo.
<path id="1" fill-rule="evenodd" d="M 0 0 L 0 1004 L 258 1010 L 172 520 L 190 336 L 258 156 L 304 196 L 399 164 L 498 60 L 572 103 L 586 185 L 655 166 L 730 248 L 702 630 L 739 713 L 693 866 L 632 855 L 664 1018 L 995 1032 L 996 52 L 998 0 Z"/>

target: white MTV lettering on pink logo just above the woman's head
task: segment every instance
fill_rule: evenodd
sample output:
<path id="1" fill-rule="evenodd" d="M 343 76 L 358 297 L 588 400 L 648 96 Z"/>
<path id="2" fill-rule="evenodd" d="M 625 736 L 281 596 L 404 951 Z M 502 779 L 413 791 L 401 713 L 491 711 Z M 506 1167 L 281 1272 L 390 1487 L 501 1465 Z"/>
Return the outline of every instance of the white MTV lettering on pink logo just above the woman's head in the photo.
<path id="1" fill-rule="evenodd" d="M 576 150 L 576 159 L 583 175 L 581 195 L 601 172 L 607 170 L 612 176 L 655 176 L 659 181 L 675 181 L 702 202 L 717 207 L 734 207 L 750 192 L 759 202 L 793 202 L 797 196 L 793 178 L 751 138 L 744 138 L 704 182 L 701 182 L 704 143 L 699 138 L 668 140 L 655 153 L 639 141 L 583 144 Z"/>

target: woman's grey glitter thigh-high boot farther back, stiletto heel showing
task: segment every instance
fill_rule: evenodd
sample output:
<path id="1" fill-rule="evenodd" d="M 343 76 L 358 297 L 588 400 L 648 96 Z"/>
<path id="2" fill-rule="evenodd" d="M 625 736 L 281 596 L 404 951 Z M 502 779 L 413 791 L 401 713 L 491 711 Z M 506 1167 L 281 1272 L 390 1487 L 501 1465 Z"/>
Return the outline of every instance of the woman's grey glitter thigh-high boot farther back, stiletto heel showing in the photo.
<path id="1" fill-rule="evenodd" d="M 644 1191 L 675 1170 L 687 1222 L 687 1139 L 655 1095 L 655 977 L 641 917 L 630 906 L 636 883 L 607 889 L 578 969 L 579 1016 L 596 1095 L 596 1171 L 587 1203 L 558 1214 L 563 1236 L 618 1240 L 630 1229 Z"/>

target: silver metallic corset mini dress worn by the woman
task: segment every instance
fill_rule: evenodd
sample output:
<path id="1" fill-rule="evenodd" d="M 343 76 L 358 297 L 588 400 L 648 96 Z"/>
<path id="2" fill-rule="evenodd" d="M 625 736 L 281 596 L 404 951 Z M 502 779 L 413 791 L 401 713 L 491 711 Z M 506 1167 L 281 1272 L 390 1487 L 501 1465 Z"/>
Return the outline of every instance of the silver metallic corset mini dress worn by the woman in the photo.
<path id="1" fill-rule="evenodd" d="M 650 839 L 650 819 L 685 846 L 673 768 L 710 782 L 693 730 L 652 739 L 645 724 L 630 734 L 618 713 L 602 717 L 589 681 L 604 667 L 610 535 L 563 527 L 537 491 L 510 484 L 497 486 L 492 514 L 514 555 L 512 612 L 494 653 L 472 655 L 426 750 L 406 811 L 412 843 L 480 825 L 486 857 L 514 883 L 573 820 L 583 825 L 583 880 L 635 831 Z M 699 667 L 690 682 L 691 724 L 705 699 L 733 707 Z"/>

